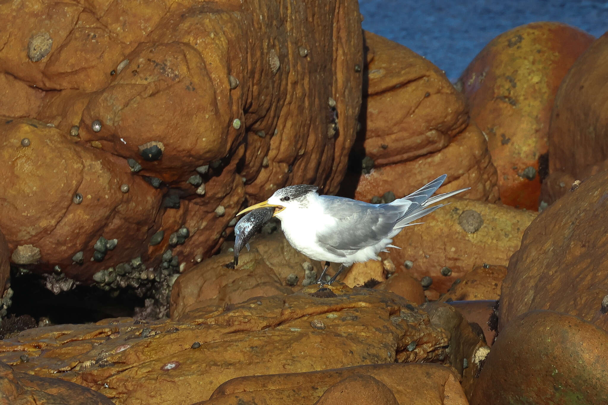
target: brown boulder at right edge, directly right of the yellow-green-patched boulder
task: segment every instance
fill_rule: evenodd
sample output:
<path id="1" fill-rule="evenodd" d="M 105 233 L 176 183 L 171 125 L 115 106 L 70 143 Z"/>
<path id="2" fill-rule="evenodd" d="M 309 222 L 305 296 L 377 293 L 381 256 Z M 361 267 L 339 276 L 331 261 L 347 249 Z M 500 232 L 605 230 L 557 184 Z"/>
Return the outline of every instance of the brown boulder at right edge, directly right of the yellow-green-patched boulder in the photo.
<path id="1" fill-rule="evenodd" d="M 549 126 L 549 172 L 572 175 L 584 180 L 598 171 L 608 169 L 606 133 L 608 118 L 606 104 L 606 67 L 608 35 L 604 34 L 587 48 L 559 86 Z M 593 166 L 599 165 L 594 169 Z M 562 174 L 562 175 L 563 175 Z M 570 184 L 566 182 L 566 188 Z M 553 193 L 560 196 L 558 187 Z M 543 199 L 552 203 L 551 193 Z"/>

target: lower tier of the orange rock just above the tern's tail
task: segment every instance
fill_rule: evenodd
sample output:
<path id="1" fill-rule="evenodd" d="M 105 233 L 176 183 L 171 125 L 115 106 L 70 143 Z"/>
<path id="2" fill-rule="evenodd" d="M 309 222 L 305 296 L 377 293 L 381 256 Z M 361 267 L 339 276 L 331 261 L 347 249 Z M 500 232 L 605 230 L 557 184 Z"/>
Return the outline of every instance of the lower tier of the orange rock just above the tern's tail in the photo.
<path id="1" fill-rule="evenodd" d="M 447 180 L 438 192 L 454 191 L 471 187 L 463 196 L 468 199 L 498 199 L 496 169 L 488 152 L 482 132 L 470 124 L 444 149 L 427 154 L 409 162 L 399 162 L 362 174 L 354 197 L 370 201 L 373 196 L 382 196 L 392 191 L 404 197 L 421 186 L 447 173 Z"/>

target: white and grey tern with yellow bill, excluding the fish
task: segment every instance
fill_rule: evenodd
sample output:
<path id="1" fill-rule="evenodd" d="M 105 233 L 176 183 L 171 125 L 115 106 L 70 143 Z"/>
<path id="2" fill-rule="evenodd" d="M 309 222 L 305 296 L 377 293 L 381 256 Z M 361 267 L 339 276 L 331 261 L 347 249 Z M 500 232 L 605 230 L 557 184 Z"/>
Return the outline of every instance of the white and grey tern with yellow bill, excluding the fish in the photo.
<path id="1" fill-rule="evenodd" d="M 273 216 L 280 219 L 289 244 L 310 259 L 325 262 L 317 284 L 332 284 L 353 263 L 380 260 L 378 253 L 398 248 L 391 245 L 396 234 L 406 226 L 420 224 L 411 222 L 447 204 L 429 205 L 469 189 L 433 196 L 446 177 L 441 175 L 412 194 L 385 204 L 320 195 L 316 186 L 287 186 L 237 216 L 257 208 L 274 208 Z M 340 267 L 325 283 L 323 277 L 331 263 Z"/>

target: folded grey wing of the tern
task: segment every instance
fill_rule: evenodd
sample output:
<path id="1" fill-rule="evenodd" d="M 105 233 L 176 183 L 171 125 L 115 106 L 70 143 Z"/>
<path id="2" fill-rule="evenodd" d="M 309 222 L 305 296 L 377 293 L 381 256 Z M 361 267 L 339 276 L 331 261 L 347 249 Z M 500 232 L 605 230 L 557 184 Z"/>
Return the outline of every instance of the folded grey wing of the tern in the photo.
<path id="1" fill-rule="evenodd" d="M 368 204 L 343 197 L 320 196 L 326 214 L 334 217 L 317 231 L 317 240 L 330 250 L 358 250 L 387 237 L 403 215 L 403 206 Z"/>

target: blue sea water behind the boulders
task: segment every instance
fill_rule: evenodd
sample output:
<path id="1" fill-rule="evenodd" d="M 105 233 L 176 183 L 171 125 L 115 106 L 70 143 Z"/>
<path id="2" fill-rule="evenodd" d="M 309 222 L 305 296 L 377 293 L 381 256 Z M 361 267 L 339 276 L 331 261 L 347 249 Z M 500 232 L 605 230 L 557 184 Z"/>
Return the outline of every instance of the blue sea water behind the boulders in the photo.
<path id="1" fill-rule="evenodd" d="M 600 36 L 608 1 L 359 0 L 365 30 L 425 56 L 455 81 L 492 38 L 534 21 L 560 21 Z"/>

